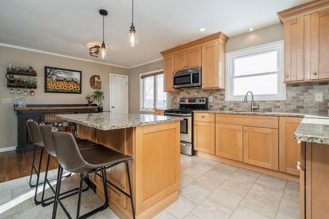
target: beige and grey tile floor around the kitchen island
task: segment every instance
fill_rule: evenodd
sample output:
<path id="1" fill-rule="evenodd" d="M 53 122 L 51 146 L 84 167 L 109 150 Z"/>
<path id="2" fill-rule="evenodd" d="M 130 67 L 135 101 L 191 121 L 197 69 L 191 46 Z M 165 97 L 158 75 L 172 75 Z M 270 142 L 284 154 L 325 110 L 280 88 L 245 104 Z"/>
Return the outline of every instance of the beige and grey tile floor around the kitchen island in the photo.
<path id="1" fill-rule="evenodd" d="M 57 171 L 51 174 L 55 177 Z M 78 177 L 66 178 L 63 190 L 74 188 Z M 154 218 L 299 218 L 298 183 L 184 154 L 181 154 L 180 183 L 178 201 Z M 35 206 L 33 195 L 28 177 L 1 183 L 0 218 L 51 218 L 52 205 Z M 63 201 L 72 215 L 75 215 L 76 199 L 74 195 Z M 101 205 L 90 189 L 83 193 L 82 200 L 82 213 Z M 57 218 L 66 218 L 60 207 Z M 119 217 L 107 208 L 91 218 Z"/>

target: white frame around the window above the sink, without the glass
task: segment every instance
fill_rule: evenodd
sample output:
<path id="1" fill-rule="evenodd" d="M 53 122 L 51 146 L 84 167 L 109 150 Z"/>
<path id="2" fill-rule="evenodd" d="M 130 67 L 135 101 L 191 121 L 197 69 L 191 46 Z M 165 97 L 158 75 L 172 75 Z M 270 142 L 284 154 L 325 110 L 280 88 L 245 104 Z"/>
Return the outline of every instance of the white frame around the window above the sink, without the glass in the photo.
<path id="1" fill-rule="evenodd" d="M 225 54 L 226 59 L 226 89 L 225 89 L 225 101 L 243 101 L 244 95 L 233 95 L 233 65 L 234 58 L 250 56 L 257 53 L 264 53 L 270 50 L 278 51 L 278 94 L 269 95 L 254 95 L 255 101 L 278 101 L 286 99 L 286 86 L 284 82 L 284 64 L 283 64 L 283 40 L 276 41 L 259 46 L 249 47 L 246 49 L 236 50 Z M 257 75 L 265 75 L 267 72 Z M 252 91 L 252 87 L 249 89 Z"/>

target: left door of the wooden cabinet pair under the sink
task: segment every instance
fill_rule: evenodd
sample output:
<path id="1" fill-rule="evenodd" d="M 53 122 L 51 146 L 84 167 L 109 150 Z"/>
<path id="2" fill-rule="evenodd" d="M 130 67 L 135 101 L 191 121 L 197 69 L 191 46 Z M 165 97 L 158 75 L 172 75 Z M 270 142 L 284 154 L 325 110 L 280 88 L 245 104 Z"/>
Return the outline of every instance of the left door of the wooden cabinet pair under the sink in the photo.
<path id="1" fill-rule="evenodd" d="M 243 126 L 215 125 L 215 152 L 217 156 L 243 161 Z"/>

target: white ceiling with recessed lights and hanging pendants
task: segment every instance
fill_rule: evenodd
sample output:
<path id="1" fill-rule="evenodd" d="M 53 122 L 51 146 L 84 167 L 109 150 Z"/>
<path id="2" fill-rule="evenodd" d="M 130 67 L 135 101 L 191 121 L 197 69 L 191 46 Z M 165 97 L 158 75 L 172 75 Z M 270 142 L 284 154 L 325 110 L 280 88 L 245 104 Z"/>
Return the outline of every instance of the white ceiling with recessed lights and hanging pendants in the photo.
<path id="1" fill-rule="evenodd" d="M 133 67 L 161 58 L 159 52 L 222 31 L 229 37 L 279 23 L 277 12 L 309 0 L 134 0 L 139 47 L 125 45 L 132 22 L 131 0 L 1 0 L 0 45 Z M 109 56 L 89 55 L 102 42 Z M 200 27 L 206 28 L 198 32 Z M 92 43 L 93 42 L 93 43 Z"/>

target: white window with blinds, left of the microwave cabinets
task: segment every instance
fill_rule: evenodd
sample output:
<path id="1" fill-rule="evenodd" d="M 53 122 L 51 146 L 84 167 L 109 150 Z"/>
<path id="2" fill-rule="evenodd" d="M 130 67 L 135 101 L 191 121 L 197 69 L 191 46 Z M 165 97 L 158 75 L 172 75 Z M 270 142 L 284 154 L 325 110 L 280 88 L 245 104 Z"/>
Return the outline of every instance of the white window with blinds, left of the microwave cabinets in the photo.
<path id="1" fill-rule="evenodd" d="M 167 94 L 163 92 L 163 71 L 140 76 L 140 109 L 167 108 Z"/>

